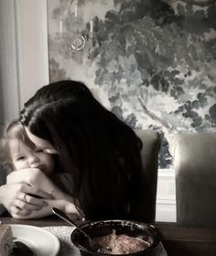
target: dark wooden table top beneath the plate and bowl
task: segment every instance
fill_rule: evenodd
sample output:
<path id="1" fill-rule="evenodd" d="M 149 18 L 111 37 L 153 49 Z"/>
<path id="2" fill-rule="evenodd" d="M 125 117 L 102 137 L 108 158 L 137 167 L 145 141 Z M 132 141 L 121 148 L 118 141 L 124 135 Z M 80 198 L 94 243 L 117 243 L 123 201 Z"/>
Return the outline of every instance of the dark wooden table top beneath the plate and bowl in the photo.
<path id="1" fill-rule="evenodd" d="M 38 227 L 69 226 L 58 217 L 17 220 L 0 217 L 3 224 L 25 224 Z M 168 256 L 215 256 L 216 228 L 180 227 L 177 223 L 156 223 Z"/>

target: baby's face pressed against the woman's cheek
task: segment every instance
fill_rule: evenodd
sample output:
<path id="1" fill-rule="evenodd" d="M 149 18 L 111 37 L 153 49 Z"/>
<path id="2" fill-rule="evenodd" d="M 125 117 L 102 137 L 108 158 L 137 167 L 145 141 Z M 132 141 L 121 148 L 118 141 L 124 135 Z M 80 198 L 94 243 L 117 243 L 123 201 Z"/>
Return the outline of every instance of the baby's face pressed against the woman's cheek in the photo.
<path id="1" fill-rule="evenodd" d="M 53 155 L 47 154 L 43 150 L 30 149 L 19 139 L 12 139 L 9 146 L 15 170 L 38 168 L 48 176 L 53 173 Z"/>

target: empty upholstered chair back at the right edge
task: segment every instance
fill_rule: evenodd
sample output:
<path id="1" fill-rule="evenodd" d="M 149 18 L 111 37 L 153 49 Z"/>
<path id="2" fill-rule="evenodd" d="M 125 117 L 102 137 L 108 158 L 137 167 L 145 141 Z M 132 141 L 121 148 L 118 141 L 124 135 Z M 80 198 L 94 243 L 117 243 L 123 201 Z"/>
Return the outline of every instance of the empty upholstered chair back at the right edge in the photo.
<path id="1" fill-rule="evenodd" d="M 216 227 L 216 132 L 182 133 L 171 142 L 177 222 Z"/>

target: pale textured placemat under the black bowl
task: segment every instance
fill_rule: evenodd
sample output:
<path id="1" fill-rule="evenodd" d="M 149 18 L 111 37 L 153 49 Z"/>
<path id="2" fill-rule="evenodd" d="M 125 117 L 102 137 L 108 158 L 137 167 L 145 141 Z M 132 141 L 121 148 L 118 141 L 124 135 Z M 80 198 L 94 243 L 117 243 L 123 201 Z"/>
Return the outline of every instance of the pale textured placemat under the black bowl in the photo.
<path id="1" fill-rule="evenodd" d="M 70 233 L 74 228 L 68 226 L 58 226 L 58 227 L 43 227 L 50 233 L 59 238 L 60 250 L 58 256 L 80 256 L 79 250 L 72 246 L 70 242 Z M 151 256 L 167 256 L 167 252 L 164 249 L 162 243 L 160 243 L 157 248 L 151 253 Z"/>

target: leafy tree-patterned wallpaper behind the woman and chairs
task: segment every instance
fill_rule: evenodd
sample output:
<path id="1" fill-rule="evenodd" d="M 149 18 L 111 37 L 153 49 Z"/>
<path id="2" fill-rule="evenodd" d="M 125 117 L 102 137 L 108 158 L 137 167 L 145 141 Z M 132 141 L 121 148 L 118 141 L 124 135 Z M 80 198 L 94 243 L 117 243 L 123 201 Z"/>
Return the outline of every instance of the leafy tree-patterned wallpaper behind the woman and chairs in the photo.
<path id="1" fill-rule="evenodd" d="M 166 169 L 173 134 L 216 130 L 216 4 L 186 2 L 48 0 L 50 82 L 80 80 L 131 128 L 159 131 Z"/>

